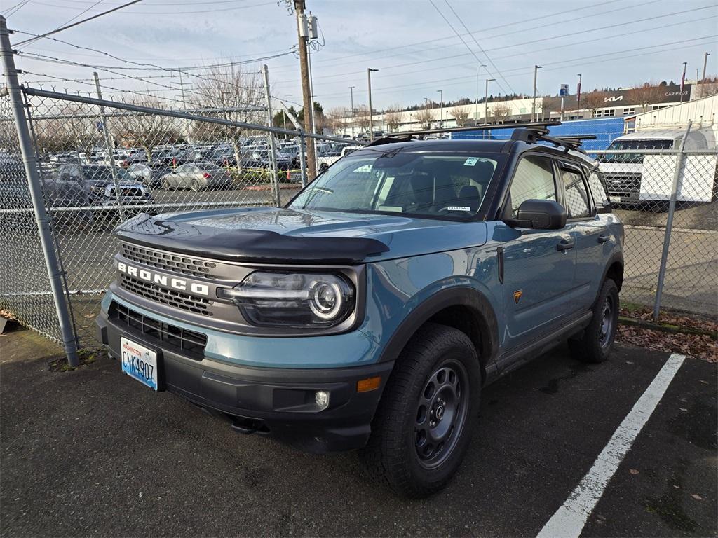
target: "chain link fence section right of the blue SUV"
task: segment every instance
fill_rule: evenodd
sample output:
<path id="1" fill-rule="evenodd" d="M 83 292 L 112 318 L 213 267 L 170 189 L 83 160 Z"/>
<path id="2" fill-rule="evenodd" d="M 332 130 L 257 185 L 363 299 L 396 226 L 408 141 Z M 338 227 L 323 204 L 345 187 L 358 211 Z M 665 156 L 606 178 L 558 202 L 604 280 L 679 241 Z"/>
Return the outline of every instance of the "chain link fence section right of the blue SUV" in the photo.
<path id="1" fill-rule="evenodd" d="M 642 148 L 589 154 L 599 161 L 613 212 L 625 227 L 622 301 L 652 306 L 660 293 L 662 307 L 716 316 L 716 151 Z"/>

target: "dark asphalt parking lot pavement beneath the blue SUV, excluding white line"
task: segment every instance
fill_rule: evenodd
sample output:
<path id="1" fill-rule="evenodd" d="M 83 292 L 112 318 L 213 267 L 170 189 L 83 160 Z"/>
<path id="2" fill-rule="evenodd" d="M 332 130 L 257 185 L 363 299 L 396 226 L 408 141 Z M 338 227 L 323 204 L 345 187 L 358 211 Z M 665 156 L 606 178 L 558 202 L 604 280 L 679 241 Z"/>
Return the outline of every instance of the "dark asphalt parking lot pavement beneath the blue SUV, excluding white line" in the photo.
<path id="1" fill-rule="evenodd" d="M 30 331 L 0 337 L 3 536 L 536 536 L 668 359 L 538 357 L 485 388 L 447 489 L 405 501 L 353 453 L 234 433 L 106 357 L 51 371 L 57 351 Z M 718 534 L 716 373 L 685 360 L 584 536 Z"/>

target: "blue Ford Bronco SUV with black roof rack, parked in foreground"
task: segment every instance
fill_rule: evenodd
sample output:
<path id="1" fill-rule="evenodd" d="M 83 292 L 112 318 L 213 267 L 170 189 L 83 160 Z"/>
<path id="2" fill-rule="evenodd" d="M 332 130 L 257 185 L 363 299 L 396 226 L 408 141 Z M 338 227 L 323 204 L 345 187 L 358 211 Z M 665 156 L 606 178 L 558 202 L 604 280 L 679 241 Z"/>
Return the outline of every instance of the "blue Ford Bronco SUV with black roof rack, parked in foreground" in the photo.
<path id="1" fill-rule="evenodd" d="M 116 234 L 97 326 L 123 372 L 241 433 L 361 449 L 410 497 L 460 466 L 486 383 L 566 340 L 609 357 L 623 282 L 596 163 L 545 129 L 384 138 L 286 207 Z"/>

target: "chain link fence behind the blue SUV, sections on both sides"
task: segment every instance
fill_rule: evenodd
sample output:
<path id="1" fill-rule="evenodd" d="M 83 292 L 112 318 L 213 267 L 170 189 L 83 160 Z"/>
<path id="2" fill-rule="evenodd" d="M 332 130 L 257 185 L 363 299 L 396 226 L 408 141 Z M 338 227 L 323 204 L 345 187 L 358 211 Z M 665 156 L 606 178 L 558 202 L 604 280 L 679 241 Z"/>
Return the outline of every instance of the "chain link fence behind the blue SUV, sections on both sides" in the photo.
<path id="1" fill-rule="evenodd" d="M 187 114 L 32 88 L 24 94 L 43 203 L 80 344 L 94 344 L 93 322 L 113 278 L 113 229 L 119 222 L 140 212 L 284 204 L 307 177 L 301 133 L 226 119 L 231 110 Z M 0 121 L 0 308 L 57 340 L 7 97 L 0 97 Z M 337 159 L 346 143 L 315 138 L 326 156 L 320 166 Z M 599 161 L 614 211 L 625 223 L 623 300 L 653 306 L 662 292 L 663 306 L 715 316 L 716 151 L 589 153 Z"/>

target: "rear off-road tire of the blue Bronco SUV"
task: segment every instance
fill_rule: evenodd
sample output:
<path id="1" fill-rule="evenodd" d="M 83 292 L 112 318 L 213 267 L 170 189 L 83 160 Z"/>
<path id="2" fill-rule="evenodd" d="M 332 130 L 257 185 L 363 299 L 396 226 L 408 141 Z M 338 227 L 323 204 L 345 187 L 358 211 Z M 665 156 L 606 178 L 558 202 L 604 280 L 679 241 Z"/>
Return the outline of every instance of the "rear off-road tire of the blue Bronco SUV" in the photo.
<path id="1" fill-rule="evenodd" d="M 605 329 L 605 313 L 610 309 L 610 320 Z M 616 283 L 607 278 L 604 280 L 593 307 L 593 318 L 579 339 L 569 340 L 569 349 L 574 359 L 581 362 L 604 362 L 611 354 L 613 339 L 618 326 L 618 288 Z"/>

